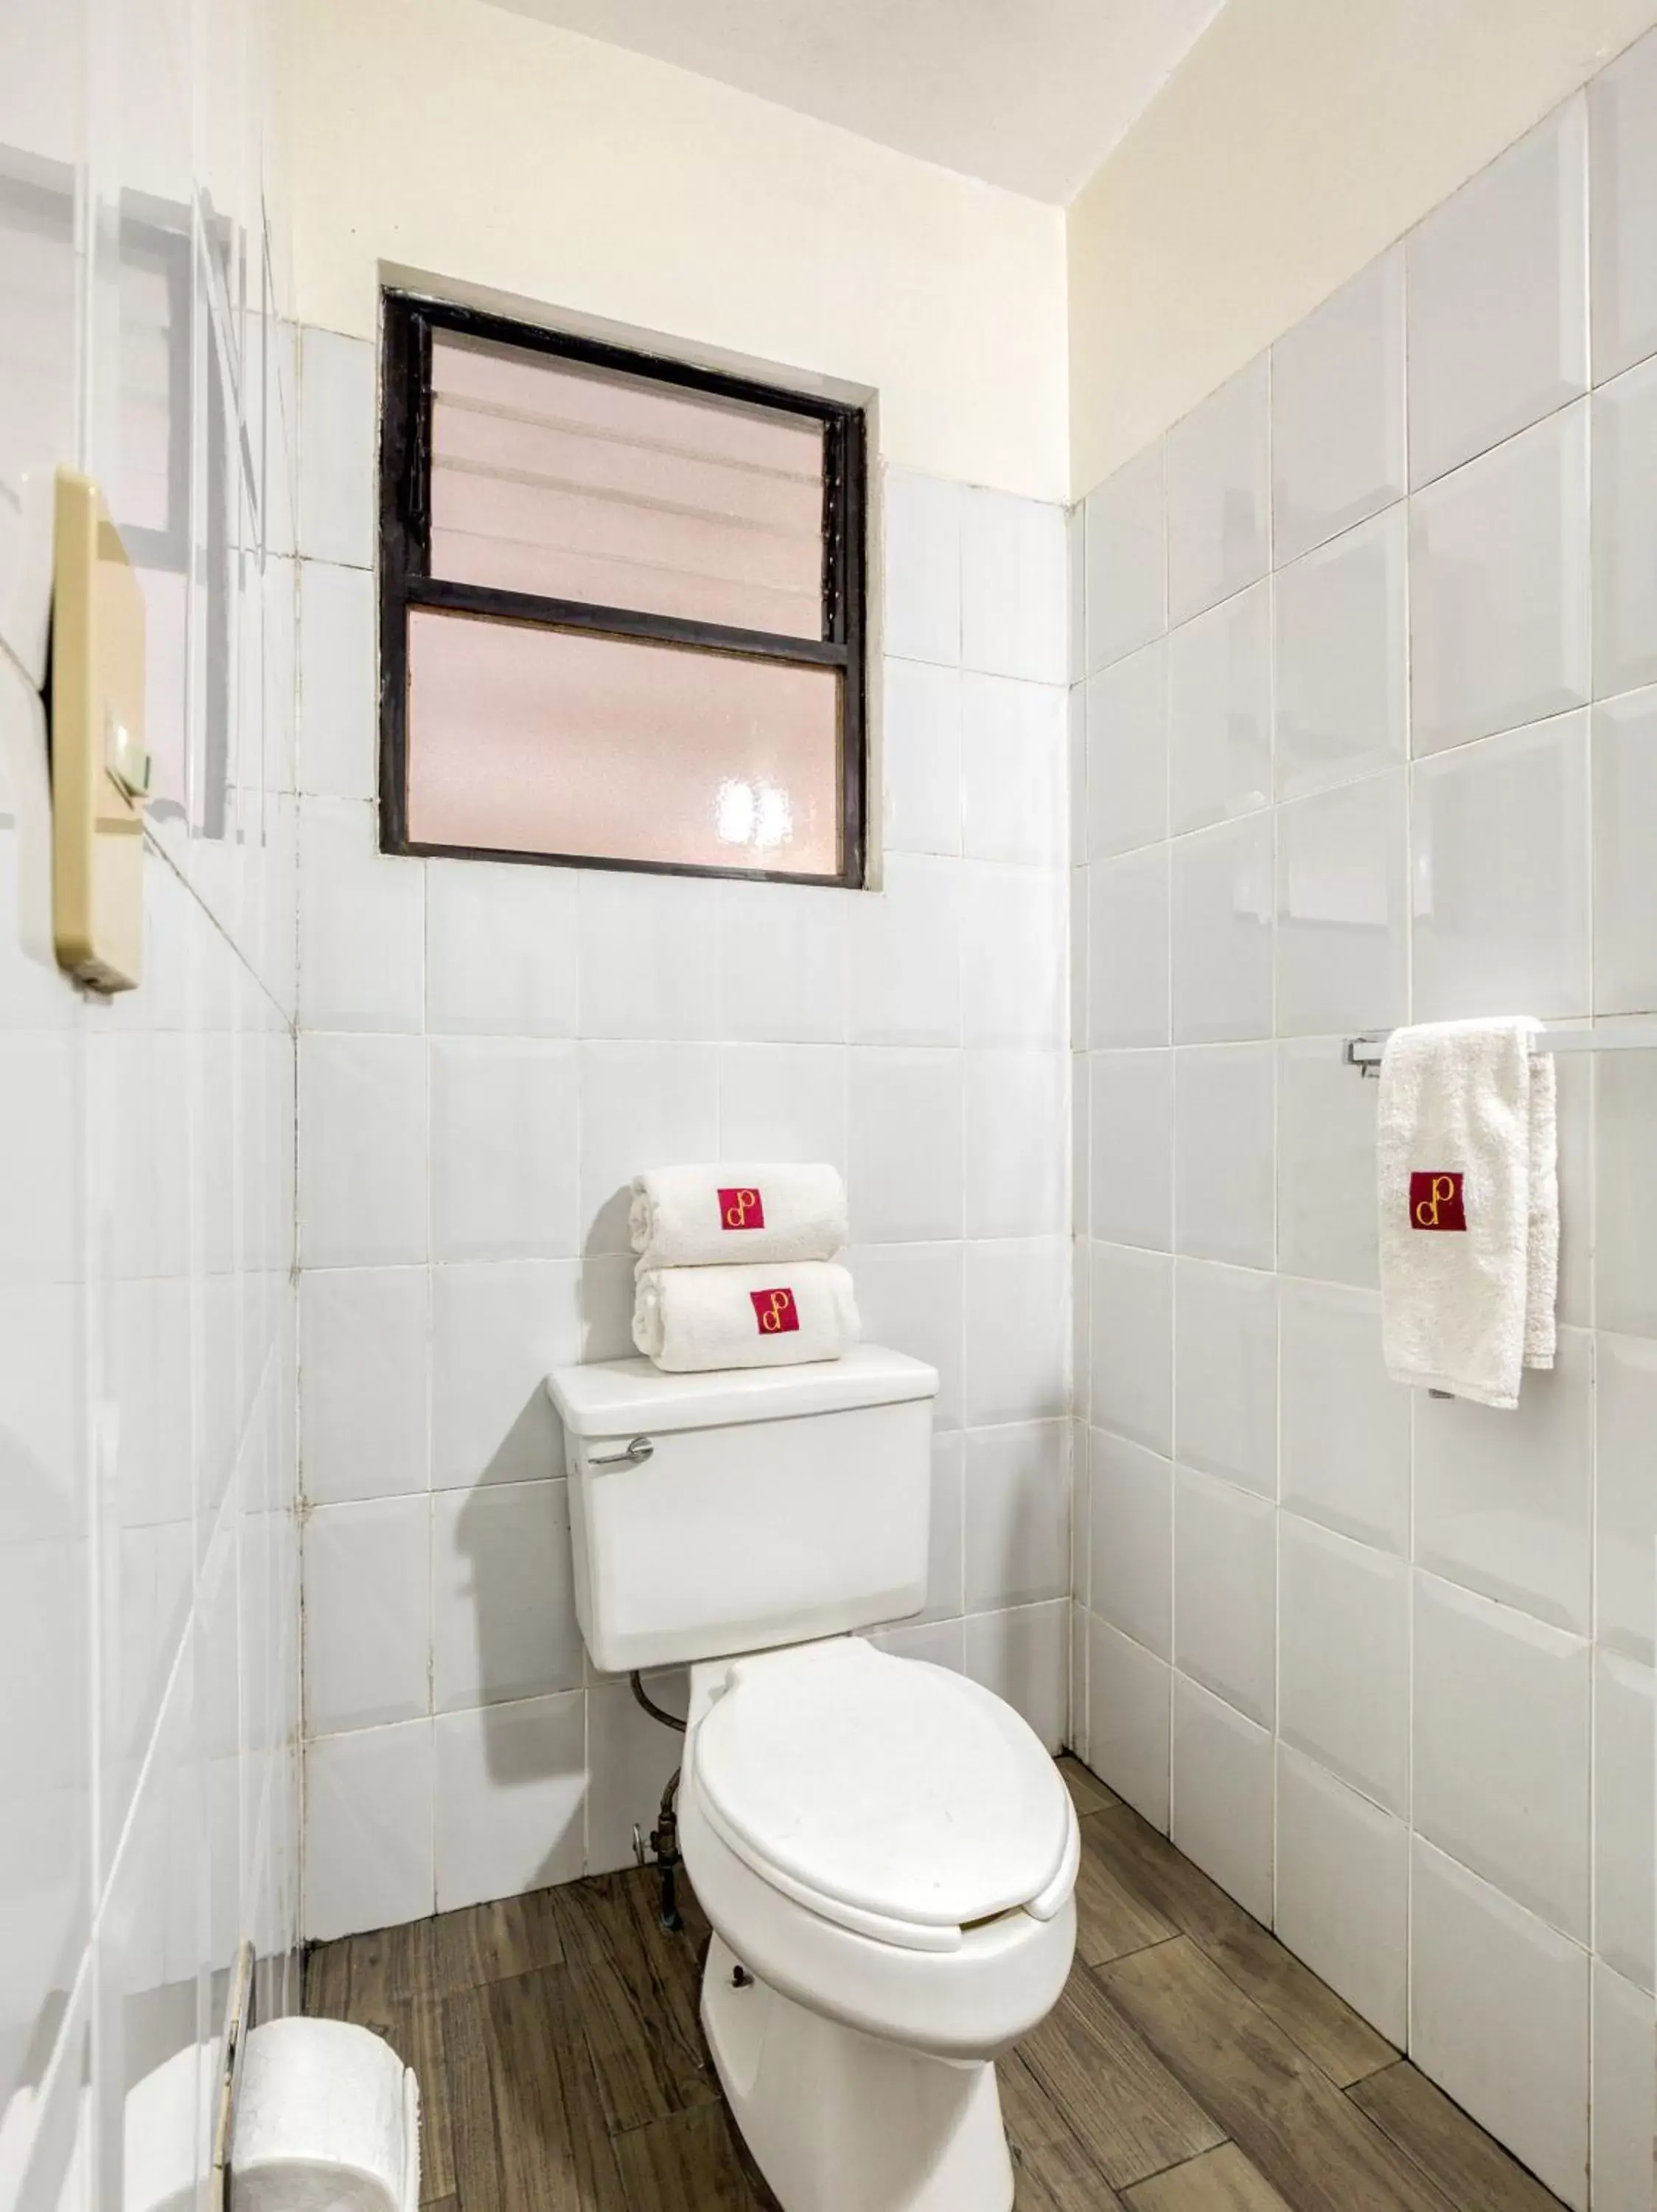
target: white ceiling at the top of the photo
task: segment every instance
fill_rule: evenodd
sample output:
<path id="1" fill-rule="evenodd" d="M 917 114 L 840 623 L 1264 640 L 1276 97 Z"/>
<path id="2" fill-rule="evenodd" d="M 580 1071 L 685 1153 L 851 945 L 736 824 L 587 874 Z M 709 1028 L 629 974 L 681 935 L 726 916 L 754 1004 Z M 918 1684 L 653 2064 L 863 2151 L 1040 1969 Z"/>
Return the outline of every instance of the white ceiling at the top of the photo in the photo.
<path id="1" fill-rule="evenodd" d="M 1069 201 L 1223 0 L 500 0 Z"/>

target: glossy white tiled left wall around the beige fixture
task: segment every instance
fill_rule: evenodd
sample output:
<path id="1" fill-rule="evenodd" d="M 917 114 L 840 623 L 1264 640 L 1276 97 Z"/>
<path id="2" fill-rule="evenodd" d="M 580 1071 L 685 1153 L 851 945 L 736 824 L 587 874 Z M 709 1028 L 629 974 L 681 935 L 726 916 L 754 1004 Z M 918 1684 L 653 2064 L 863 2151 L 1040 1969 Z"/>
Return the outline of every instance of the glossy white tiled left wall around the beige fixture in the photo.
<path id="1" fill-rule="evenodd" d="M 268 35 L 252 0 L 0 9 L 0 2203 L 27 2212 L 117 2212 L 159 2174 L 184 2201 L 241 1938 L 259 2013 L 296 2002 L 296 378 Z M 113 1004 L 18 931 L 42 668 L 4 624 L 22 476 L 60 462 L 106 489 L 148 615 L 146 969 Z"/>

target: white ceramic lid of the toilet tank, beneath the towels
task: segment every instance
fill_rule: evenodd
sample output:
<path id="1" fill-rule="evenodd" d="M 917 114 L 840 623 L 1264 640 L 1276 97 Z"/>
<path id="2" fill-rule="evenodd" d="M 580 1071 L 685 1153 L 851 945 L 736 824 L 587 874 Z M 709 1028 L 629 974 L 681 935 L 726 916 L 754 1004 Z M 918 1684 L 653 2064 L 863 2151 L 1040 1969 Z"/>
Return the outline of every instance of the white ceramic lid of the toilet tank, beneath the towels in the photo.
<path id="1" fill-rule="evenodd" d="M 555 1367 L 546 1396 L 571 1436 L 650 1436 L 936 1398 L 938 1369 L 880 1345 L 858 1345 L 843 1360 L 719 1367 L 699 1376 L 670 1376 L 650 1360 L 593 1360 Z"/>

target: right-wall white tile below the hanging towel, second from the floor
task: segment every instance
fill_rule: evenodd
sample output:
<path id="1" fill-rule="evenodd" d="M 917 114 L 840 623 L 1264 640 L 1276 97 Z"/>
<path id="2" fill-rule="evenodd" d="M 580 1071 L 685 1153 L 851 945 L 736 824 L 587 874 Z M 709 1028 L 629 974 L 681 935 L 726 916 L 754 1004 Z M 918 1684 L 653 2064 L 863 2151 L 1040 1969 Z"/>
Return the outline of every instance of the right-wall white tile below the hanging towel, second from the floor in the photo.
<path id="1" fill-rule="evenodd" d="M 1588 1938 L 1588 1646 L 1416 1575 L 1416 1829 Z"/>

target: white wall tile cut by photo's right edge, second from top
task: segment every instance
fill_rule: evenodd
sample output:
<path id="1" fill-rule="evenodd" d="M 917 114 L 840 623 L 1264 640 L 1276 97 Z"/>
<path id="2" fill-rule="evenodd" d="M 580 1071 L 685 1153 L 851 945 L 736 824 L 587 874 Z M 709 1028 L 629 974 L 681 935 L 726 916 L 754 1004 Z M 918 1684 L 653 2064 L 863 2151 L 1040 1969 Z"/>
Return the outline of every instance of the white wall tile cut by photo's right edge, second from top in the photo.
<path id="1" fill-rule="evenodd" d="M 1657 679 L 1657 365 L 1593 396 L 1593 690 Z"/>

